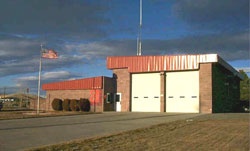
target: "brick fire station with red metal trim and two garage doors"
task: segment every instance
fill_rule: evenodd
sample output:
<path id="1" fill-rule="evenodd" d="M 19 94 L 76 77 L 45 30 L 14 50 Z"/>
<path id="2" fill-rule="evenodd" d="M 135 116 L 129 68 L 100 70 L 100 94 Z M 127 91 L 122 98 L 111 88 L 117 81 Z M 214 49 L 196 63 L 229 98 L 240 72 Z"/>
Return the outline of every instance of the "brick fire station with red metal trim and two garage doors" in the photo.
<path id="1" fill-rule="evenodd" d="M 113 77 L 48 83 L 46 101 L 89 98 L 92 111 L 233 112 L 242 76 L 217 54 L 111 56 Z M 51 107 L 49 108 L 51 110 Z"/>

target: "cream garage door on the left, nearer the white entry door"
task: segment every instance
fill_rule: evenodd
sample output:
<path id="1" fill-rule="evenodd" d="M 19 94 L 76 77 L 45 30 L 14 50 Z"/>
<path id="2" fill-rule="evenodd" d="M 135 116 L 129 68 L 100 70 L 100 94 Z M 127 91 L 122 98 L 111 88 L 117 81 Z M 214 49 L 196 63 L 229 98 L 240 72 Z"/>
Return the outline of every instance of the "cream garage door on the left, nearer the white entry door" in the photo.
<path id="1" fill-rule="evenodd" d="M 132 111 L 160 112 L 160 73 L 132 74 Z"/>

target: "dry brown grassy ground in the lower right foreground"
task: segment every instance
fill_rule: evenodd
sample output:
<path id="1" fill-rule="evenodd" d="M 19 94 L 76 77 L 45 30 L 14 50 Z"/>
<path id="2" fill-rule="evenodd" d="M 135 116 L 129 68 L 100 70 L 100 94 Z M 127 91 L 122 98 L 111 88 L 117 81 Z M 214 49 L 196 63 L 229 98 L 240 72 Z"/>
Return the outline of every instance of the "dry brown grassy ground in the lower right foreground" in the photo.
<path id="1" fill-rule="evenodd" d="M 249 151 L 249 125 L 249 113 L 206 114 L 193 119 L 33 150 Z"/>

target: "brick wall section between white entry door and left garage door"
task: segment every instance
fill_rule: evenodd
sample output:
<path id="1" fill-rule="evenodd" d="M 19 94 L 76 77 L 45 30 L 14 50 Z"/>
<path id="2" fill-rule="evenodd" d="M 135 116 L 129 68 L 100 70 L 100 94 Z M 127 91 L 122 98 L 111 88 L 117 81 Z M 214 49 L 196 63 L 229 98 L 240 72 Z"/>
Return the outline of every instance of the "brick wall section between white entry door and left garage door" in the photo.
<path id="1" fill-rule="evenodd" d="M 117 93 L 121 93 L 121 111 L 130 111 L 130 88 L 131 88 L 131 77 L 128 69 L 114 69 L 114 76 L 117 83 Z"/>

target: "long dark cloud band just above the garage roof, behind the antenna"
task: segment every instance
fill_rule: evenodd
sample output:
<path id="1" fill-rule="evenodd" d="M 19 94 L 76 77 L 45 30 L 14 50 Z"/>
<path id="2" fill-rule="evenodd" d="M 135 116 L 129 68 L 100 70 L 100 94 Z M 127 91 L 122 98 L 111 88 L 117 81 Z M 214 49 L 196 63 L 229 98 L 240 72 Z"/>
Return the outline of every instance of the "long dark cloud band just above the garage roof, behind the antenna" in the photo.
<path id="1" fill-rule="evenodd" d="M 65 50 L 73 50 L 89 60 L 109 55 L 136 55 L 136 41 L 106 40 L 86 44 L 67 44 Z M 249 58 L 248 32 L 189 36 L 179 39 L 143 39 L 143 55 L 217 53 L 227 61 Z"/>

